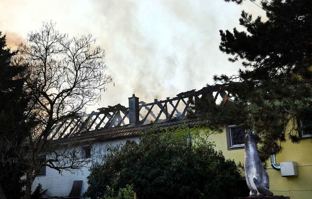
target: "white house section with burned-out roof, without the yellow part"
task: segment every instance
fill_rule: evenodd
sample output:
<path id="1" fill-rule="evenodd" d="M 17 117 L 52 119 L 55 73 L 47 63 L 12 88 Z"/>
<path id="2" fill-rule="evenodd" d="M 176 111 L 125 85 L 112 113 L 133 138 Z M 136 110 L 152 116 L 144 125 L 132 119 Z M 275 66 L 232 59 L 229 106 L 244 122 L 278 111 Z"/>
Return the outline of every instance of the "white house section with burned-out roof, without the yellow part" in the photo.
<path id="1" fill-rule="evenodd" d="M 193 127 L 199 123 L 197 119 L 186 118 L 190 108 L 189 96 L 195 99 L 202 90 L 191 90 L 178 94 L 174 98 L 154 100 L 152 103 L 139 102 L 133 95 L 129 98 L 129 108 L 120 104 L 98 109 L 90 114 L 83 115 L 79 119 L 67 121 L 58 130 L 64 135 L 62 144 L 78 143 L 84 158 L 90 158 L 92 162 L 101 162 L 105 146 L 125 143 L 127 139 L 139 140 L 138 133 L 144 128 L 157 124 L 157 127 L 174 127 L 182 123 Z M 39 161 L 44 161 L 44 155 Z M 43 189 L 48 189 L 46 196 L 68 196 L 73 181 L 82 181 L 80 196 L 87 189 L 88 168 L 91 162 L 77 173 L 63 171 L 61 175 L 55 169 L 41 167 L 39 175 L 33 183 L 33 190 L 38 183 Z"/>

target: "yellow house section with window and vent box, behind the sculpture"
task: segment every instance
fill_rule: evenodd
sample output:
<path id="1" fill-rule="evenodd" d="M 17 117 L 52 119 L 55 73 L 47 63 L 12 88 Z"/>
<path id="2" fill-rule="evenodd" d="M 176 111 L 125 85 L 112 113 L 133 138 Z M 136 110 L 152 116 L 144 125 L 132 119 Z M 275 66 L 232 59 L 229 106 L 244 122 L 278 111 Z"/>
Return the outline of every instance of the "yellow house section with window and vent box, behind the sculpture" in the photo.
<path id="1" fill-rule="evenodd" d="M 216 149 L 222 150 L 228 159 L 244 163 L 245 132 L 239 127 L 227 125 L 225 132 L 212 135 Z M 275 164 L 268 161 L 267 172 L 270 178 L 270 191 L 277 196 L 289 196 L 291 199 L 310 199 L 312 196 L 312 147 L 311 135 L 303 136 L 300 144 L 291 141 L 282 143 L 283 151 L 275 155 Z M 274 169 L 275 167 L 275 169 Z M 280 167 L 280 168 L 279 168 Z M 283 169 L 284 167 L 284 169 Z M 282 169 L 281 169 L 282 168 Z M 289 173 L 285 173 L 289 170 Z M 244 173 L 242 173 L 244 176 Z"/>

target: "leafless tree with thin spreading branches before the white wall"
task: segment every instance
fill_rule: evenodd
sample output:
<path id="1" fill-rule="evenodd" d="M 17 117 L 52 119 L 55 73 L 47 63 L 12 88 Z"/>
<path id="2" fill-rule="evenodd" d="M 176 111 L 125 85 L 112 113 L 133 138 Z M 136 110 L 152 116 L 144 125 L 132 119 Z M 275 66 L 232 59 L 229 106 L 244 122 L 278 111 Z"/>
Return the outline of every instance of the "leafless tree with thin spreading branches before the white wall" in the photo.
<path id="1" fill-rule="evenodd" d="M 62 145 L 52 147 L 51 141 L 61 139 L 66 131 L 59 130 L 71 118 L 78 117 L 86 105 L 94 104 L 100 91 L 112 81 L 106 75 L 101 47 L 94 47 L 91 35 L 69 38 L 55 29 L 55 24 L 43 23 L 37 32 L 20 44 L 21 60 L 28 67 L 25 90 L 30 97 L 26 112 L 31 134 L 27 139 L 25 199 L 31 195 L 32 183 L 43 165 L 62 170 L 85 165 L 74 152 Z M 64 150 L 66 149 L 66 150 Z M 38 163 L 38 156 L 48 154 Z"/>

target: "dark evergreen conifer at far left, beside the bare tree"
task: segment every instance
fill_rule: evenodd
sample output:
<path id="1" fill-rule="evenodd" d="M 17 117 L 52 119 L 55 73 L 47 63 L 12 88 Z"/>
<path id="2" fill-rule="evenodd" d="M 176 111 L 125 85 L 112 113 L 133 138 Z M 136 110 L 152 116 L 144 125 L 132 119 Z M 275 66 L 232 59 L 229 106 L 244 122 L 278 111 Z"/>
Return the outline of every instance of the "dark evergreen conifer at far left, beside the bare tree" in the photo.
<path id="1" fill-rule="evenodd" d="M 21 197 L 24 164 L 20 156 L 27 135 L 23 115 L 27 102 L 20 76 L 24 67 L 14 64 L 16 54 L 6 47 L 5 35 L 0 32 L 0 192 L 3 189 L 10 199 Z"/>

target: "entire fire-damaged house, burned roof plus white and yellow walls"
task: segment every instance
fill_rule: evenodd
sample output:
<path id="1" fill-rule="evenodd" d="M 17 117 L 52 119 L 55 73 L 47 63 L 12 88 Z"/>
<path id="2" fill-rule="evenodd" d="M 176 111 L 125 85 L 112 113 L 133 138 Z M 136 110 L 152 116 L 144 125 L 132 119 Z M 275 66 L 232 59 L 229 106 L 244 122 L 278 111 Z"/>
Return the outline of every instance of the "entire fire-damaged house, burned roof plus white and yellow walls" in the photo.
<path id="1" fill-rule="evenodd" d="M 197 119 L 187 118 L 187 110 L 190 108 L 189 98 L 198 100 L 205 97 L 216 99 L 220 95 L 224 101 L 226 93 L 215 87 L 201 90 L 190 90 L 152 103 L 139 102 L 133 95 L 129 98 L 129 108 L 121 105 L 98 109 L 80 119 L 73 119 L 62 128 L 63 142 L 77 142 L 81 146 L 82 154 L 94 162 L 101 162 L 103 148 L 106 145 L 124 143 L 127 139 L 139 139 L 138 132 L 144 128 L 156 124 L 157 127 L 174 127 L 185 123 L 193 127 L 200 123 Z M 291 199 L 310 199 L 312 195 L 312 136 L 302 132 L 302 142 L 292 144 L 290 141 L 283 143 L 283 152 L 276 154 L 269 161 L 267 172 L 270 177 L 270 190 L 274 195 L 290 196 Z M 226 124 L 223 133 L 214 134 L 210 139 L 215 141 L 216 149 L 222 150 L 227 159 L 234 159 L 236 163 L 244 163 L 244 136 L 245 131 L 233 124 Z M 45 157 L 41 157 L 45 158 Z M 276 161 L 276 162 L 275 162 Z M 59 172 L 50 168 L 41 168 L 40 175 L 33 184 L 33 189 L 42 184 L 47 189 L 47 196 L 68 196 L 73 181 L 82 181 L 80 195 L 87 189 L 86 177 L 89 175 L 88 163 L 78 173 Z M 275 169 L 274 169 L 275 168 Z M 277 169 L 277 170 L 276 170 Z M 280 169 L 280 170 L 278 170 Z M 285 174 L 285 171 L 289 172 Z M 242 179 L 244 172 L 242 172 Z M 246 188 L 245 181 L 241 186 Z"/>

